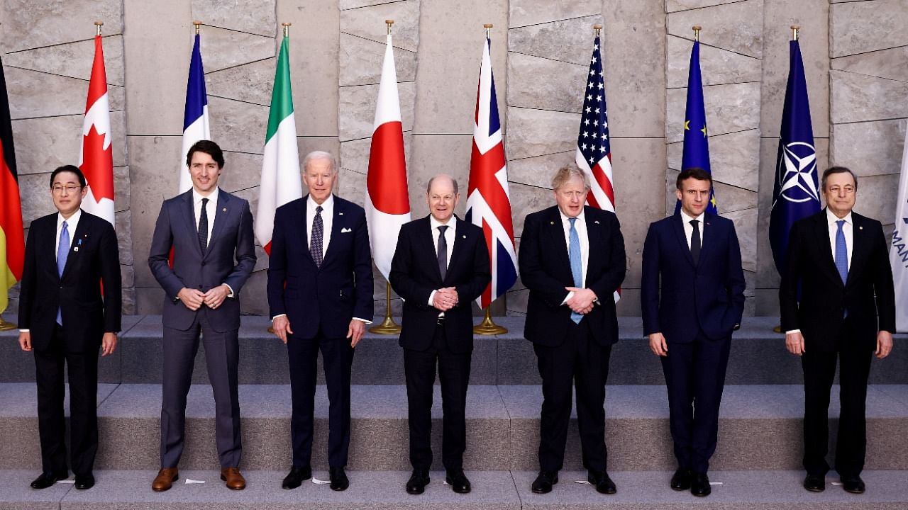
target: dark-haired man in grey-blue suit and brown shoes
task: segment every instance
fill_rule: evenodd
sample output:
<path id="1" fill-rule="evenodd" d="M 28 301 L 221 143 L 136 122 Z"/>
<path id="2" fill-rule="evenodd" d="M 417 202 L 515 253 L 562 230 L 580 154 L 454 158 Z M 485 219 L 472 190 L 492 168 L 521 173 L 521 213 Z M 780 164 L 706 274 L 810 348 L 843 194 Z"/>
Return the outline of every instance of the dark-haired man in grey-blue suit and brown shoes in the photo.
<path id="1" fill-rule="evenodd" d="M 171 488 L 179 472 L 186 423 L 186 395 L 199 350 L 215 406 L 221 479 L 245 488 L 238 466 L 242 453 L 237 364 L 239 294 L 255 267 L 249 202 L 218 187 L 224 159 L 214 142 L 196 142 L 186 154 L 192 190 L 164 201 L 154 225 L 148 265 L 164 289 L 161 471 L 152 489 Z M 173 247 L 173 267 L 168 255 Z"/>

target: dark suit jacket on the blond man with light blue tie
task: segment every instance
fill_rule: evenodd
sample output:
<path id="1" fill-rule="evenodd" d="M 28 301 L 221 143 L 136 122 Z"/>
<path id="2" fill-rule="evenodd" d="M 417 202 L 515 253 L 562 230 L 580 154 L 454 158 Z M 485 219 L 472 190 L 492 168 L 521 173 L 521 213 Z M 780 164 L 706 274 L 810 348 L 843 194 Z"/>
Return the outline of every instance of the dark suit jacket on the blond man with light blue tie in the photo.
<path id="1" fill-rule="evenodd" d="M 603 346 L 618 341 L 613 293 L 625 278 L 624 237 L 613 212 L 584 207 L 589 240 L 586 288 L 596 292 L 597 304 L 584 316 L 593 338 Z M 527 215 L 518 254 L 520 280 L 529 289 L 523 336 L 533 343 L 558 347 L 568 337 L 571 311 L 562 305 L 566 287 L 574 287 L 568 244 L 558 206 Z"/>

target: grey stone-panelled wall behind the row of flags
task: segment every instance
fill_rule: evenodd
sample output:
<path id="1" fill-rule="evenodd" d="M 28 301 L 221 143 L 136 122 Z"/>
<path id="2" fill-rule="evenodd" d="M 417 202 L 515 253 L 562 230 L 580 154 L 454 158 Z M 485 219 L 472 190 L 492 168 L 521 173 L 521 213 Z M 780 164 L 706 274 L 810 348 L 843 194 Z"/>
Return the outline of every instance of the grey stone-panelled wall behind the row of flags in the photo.
<path id="1" fill-rule="evenodd" d="M 789 25 L 802 26 L 818 167 L 852 167 L 861 183 L 857 211 L 892 224 L 908 117 L 908 0 L 0 0 L 26 229 L 53 211 L 49 172 L 78 158 L 96 19 L 105 22 L 125 310 L 155 313 L 163 292 L 146 254 L 160 203 L 177 191 L 192 20 L 204 24 L 212 138 L 227 152 L 222 186 L 252 201 L 254 211 L 281 22 L 292 23 L 300 152 L 338 154 L 338 193 L 362 203 L 389 18 L 414 217 L 427 213 L 431 175 L 452 173 L 466 189 L 482 25 L 494 25 L 518 247 L 526 214 L 553 203 L 551 173 L 573 160 L 592 25 L 604 25 L 617 215 L 627 249 L 623 315 L 639 314 L 646 227 L 674 208 L 691 25 L 703 26 L 716 199 L 741 240 L 746 313 L 778 308 L 765 232 Z M 267 313 L 267 258 L 262 250 L 259 256 L 242 292 L 244 313 Z M 381 313 L 385 281 L 376 277 Z M 11 310 L 16 295 L 14 288 Z M 521 314 L 526 299 L 518 280 L 493 311 Z M 400 310 L 398 299 L 392 309 Z"/>

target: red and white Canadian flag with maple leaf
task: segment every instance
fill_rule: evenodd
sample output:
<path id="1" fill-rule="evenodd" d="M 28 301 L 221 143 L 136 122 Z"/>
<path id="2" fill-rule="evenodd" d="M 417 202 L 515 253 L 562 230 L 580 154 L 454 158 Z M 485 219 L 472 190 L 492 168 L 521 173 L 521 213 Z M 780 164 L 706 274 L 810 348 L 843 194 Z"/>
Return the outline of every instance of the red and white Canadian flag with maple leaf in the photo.
<path id="1" fill-rule="evenodd" d="M 114 153 L 111 148 L 111 115 L 107 101 L 107 76 L 101 35 L 94 36 L 94 64 L 88 82 L 88 101 L 82 123 L 79 169 L 88 183 L 82 209 L 114 224 Z"/>

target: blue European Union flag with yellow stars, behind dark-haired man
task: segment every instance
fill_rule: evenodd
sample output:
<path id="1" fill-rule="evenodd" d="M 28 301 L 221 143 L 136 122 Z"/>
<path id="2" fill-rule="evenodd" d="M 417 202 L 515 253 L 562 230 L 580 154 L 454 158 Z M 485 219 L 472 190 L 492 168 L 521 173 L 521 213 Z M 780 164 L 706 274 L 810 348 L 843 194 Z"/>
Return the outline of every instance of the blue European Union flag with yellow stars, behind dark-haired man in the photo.
<path id="1" fill-rule="evenodd" d="M 700 78 L 700 42 L 694 41 L 690 52 L 690 73 L 687 75 L 687 106 L 684 121 L 684 152 L 681 156 L 681 170 L 709 168 L 709 139 L 706 132 L 706 106 L 703 102 L 703 80 Z M 675 212 L 681 210 L 681 201 L 675 204 Z M 718 214 L 716 209 L 716 187 L 709 191 L 709 205 L 706 212 Z"/>

